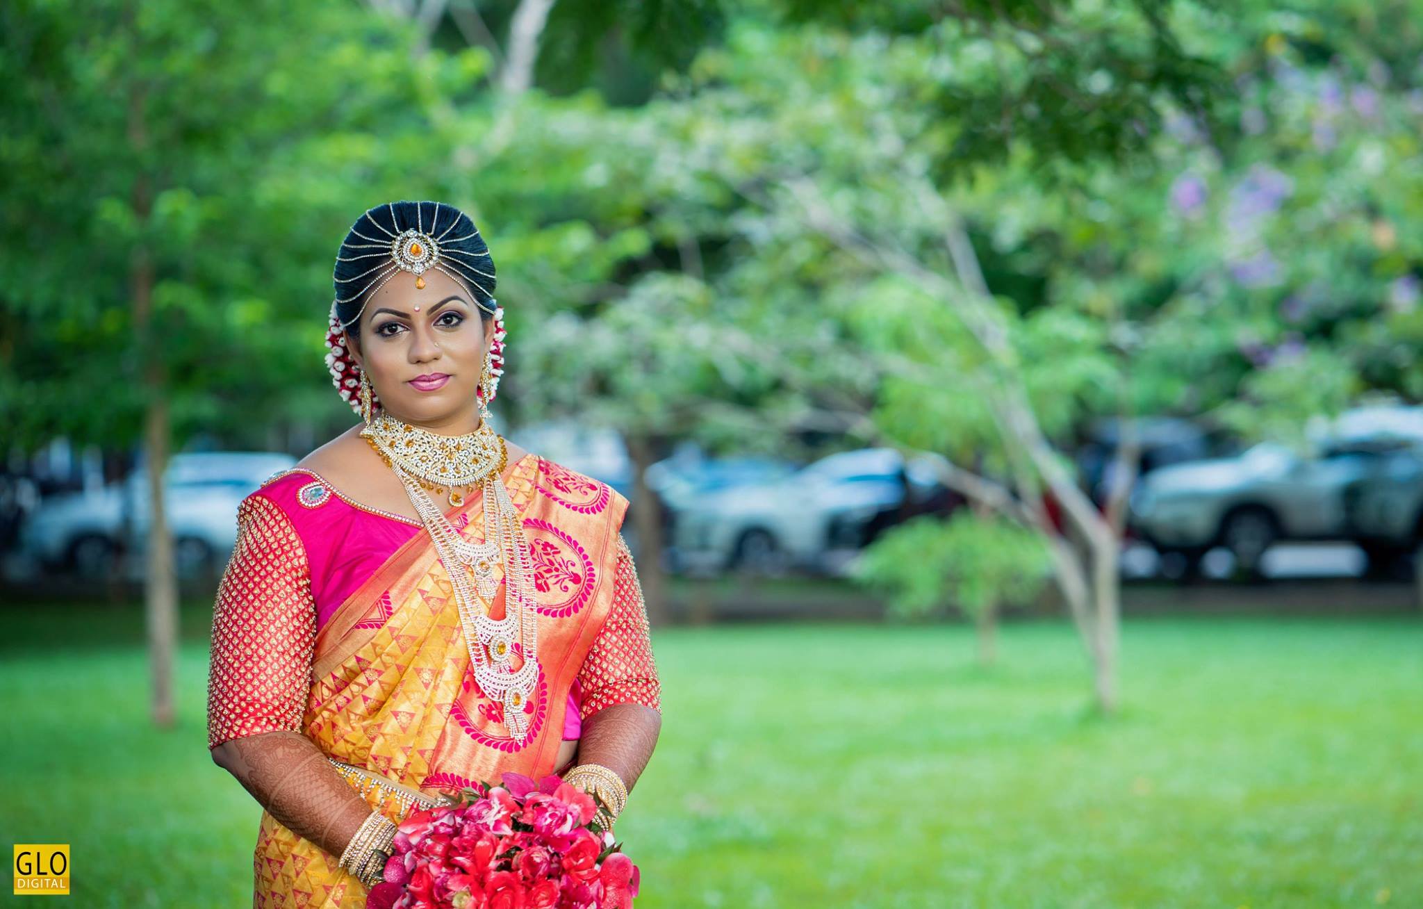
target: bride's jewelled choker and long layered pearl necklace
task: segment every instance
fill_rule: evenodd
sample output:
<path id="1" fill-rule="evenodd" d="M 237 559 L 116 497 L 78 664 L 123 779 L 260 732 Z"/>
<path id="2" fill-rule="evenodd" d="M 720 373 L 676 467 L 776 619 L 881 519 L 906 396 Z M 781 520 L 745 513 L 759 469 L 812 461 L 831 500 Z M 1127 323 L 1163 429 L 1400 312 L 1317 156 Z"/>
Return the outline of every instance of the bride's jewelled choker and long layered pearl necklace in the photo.
<path id="1" fill-rule="evenodd" d="M 538 622 L 528 541 L 499 475 L 508 462 L 504 438 L 487 421 L 474 432 L 438 435 L 384 411 L 371 417 L 361 437 L 400 478 L 434 541 L 454 588 L 475 681 L 491 700 L 502 703 L 509 734 L 524 738 L 529 727 L 524 707 L 538 683 Z M 448 487 L 450 502 L 458 506 L 464 498 L 457 485 L 480 487 L 482 492 L 482 543 L 461 536 L 427 492 Z M 498 620 L 490 617 L 498 588 L 495 562 L 504 569 L 504 617 Z M 524 657 L 518 670 L 512 669 L 515 642 Z"/>

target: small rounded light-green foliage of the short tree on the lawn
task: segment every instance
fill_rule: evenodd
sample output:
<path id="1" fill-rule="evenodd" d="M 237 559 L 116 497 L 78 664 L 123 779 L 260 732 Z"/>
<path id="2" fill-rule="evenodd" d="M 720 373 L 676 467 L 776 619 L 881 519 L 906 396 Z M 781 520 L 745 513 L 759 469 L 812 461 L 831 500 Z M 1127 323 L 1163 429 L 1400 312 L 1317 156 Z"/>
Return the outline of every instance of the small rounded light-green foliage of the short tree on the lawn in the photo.
<path id="1" fill-rule="evenodd" d="M 1040 535 L 1005 518 L 955 511 L 915 518 L 871 543 L 855 579 L 901 617 L 952 606 L 979 616 L 1030 603 L 1052 570 Z"/>

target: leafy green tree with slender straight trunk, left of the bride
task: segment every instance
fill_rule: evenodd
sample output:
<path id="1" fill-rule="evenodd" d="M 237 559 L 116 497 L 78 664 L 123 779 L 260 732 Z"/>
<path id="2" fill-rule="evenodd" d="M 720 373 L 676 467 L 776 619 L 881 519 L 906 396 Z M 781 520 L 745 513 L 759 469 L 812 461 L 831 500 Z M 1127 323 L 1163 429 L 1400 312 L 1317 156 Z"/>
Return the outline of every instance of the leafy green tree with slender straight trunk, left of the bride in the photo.
<path id="1" fill-rule="evenodd" d="M 0 413 L 24 445 L 142 444 L 154 718 L 166 725 L 169 450 L 199 431 L 250 438 L 309 405 L 293 390 L 320 387 L 329 307 L 312 290 L 330 286 L 350 199 L 418 172 L 400 137 L 431 71 L 374 17 L 320 3 L 77 14 L 21 1 L 0 17 L 13 127 L 0 312 L 20 339 L 0 361 Z"/>

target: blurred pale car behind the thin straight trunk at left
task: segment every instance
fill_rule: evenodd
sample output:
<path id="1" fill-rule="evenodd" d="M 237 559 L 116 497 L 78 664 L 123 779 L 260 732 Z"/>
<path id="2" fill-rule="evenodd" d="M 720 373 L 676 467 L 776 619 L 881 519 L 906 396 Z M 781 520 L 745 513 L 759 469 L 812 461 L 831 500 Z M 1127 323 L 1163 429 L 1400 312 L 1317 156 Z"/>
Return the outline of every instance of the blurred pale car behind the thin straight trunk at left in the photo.
<path id="1" fill-rule="evenodd" d="M 296 465 L 276 452 L 184 452 L 164 472 L 165 509 L 181 578 L 212 572 L 236 542 L 238 504 L 273 474 Z M 120 553 L 142 553 L 149 502 L 142 464 L 122 482 L 41 499 L 20 529 L 20 553 L 44 569 L 100 578 Z M 131 570 L 141 559 L 129 559 Z"/>

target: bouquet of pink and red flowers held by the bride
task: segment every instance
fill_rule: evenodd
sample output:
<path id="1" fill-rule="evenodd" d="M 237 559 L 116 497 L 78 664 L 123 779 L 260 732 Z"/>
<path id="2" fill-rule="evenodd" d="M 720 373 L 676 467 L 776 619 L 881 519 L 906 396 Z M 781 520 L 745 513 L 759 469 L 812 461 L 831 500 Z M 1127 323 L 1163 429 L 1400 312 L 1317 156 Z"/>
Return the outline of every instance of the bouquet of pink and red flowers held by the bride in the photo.
<path id="1" fill-rule="evenodd" d="M 504 774 L 406 818 L 367 909 L 628 909 L 638 866 L 593 824 L 601 799 Z"/>

